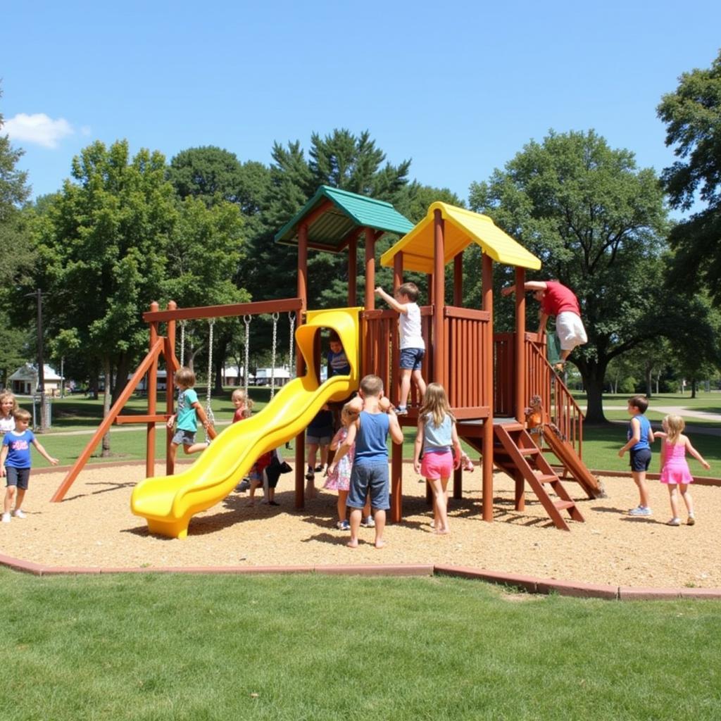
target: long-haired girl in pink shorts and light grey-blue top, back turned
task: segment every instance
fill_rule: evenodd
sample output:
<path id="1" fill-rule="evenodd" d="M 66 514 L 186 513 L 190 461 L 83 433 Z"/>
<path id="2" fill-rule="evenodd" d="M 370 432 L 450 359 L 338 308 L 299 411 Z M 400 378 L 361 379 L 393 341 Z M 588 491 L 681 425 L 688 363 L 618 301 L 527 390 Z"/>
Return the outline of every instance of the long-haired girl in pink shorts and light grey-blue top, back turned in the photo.
<path id="1" fill-rule="evenodd" d="M 423 463 L 420 461 L 421 451 Z M 448 533 L 446 492 L 451 472 L 460 464 L 461 443 L 446 389 L 440 383 L 431 383 L 425 390 L 423 405 L 418 411 L 413 468 L 416 473 L 425 476 L 433 491 L 433 528 L 436 534 Z"/>

